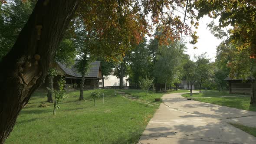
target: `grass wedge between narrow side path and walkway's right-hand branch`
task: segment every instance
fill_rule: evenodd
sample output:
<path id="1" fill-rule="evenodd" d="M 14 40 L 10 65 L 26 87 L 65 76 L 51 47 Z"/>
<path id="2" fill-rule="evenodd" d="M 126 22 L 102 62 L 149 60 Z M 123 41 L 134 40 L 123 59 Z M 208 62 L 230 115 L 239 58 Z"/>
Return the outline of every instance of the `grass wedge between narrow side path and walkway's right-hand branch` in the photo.
<path id="1" fill-rule="evenodd" d="M 256 106 L 250 105 L 250 97 L 193 98 L 193 100 L 207 102 L 216 105 L 224 105 L 231 108 L 239 108 L 248 111 L 256 111 Z"/>

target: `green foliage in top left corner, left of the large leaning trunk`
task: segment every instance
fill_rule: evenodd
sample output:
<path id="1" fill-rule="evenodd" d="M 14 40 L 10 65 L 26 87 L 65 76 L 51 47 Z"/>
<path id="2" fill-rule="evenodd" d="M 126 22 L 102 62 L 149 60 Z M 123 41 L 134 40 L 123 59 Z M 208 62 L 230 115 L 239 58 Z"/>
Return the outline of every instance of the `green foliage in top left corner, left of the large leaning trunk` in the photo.
<path id="1" fill-rule="evenodd" d="M 0 59 L 13 47 L 34 7 L 33 0 L 12 0 L 0 5 Z"/>

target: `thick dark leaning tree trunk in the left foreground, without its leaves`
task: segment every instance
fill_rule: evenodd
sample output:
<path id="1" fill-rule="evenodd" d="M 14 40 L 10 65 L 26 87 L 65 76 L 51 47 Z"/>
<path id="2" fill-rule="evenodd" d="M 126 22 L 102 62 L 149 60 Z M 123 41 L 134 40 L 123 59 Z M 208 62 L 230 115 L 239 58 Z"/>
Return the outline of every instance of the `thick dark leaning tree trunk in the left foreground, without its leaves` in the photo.
<path id="1" fill-rule="evenodd" d="M 13 48 L 0 62 L 0 144 L 45 79 L 78 0 L 38 0 Z"/>

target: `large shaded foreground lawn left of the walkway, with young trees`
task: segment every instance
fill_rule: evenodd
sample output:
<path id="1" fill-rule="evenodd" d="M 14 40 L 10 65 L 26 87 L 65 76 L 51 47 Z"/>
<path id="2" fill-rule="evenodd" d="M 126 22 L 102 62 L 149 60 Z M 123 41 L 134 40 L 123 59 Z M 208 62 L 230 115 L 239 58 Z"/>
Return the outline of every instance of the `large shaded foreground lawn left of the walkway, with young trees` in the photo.
<path id="1" fill-rule="evenodd" d="M 104 105 L 99 98 L 96 106 L 90 98 L 92 91 L 84 91 L 84 101 L 78 101 L 78 91 L 70 92 L 69 98 L 60 103 L 56 116 L 53 104 L 39 107 L 46 101 L 46 93 L 35 92 L 20 112 L 6 144 L 137 144 L 158 105 L 114 96 L 112 90 L 101 91 Z"/>

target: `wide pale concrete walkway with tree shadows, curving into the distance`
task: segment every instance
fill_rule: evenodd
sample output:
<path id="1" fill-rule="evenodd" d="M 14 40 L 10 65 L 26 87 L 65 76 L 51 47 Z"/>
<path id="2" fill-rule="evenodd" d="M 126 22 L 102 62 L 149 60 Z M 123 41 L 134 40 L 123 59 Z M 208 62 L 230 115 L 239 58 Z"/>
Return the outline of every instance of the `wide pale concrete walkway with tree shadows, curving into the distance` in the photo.
<path id="1" fill-rule="evenodd" d="M 189 101 L 181 94 L 163 96 L 138 144 L 256 144 L 256 137 L 226 123 L 254 117 L 256 112 Z"/>

